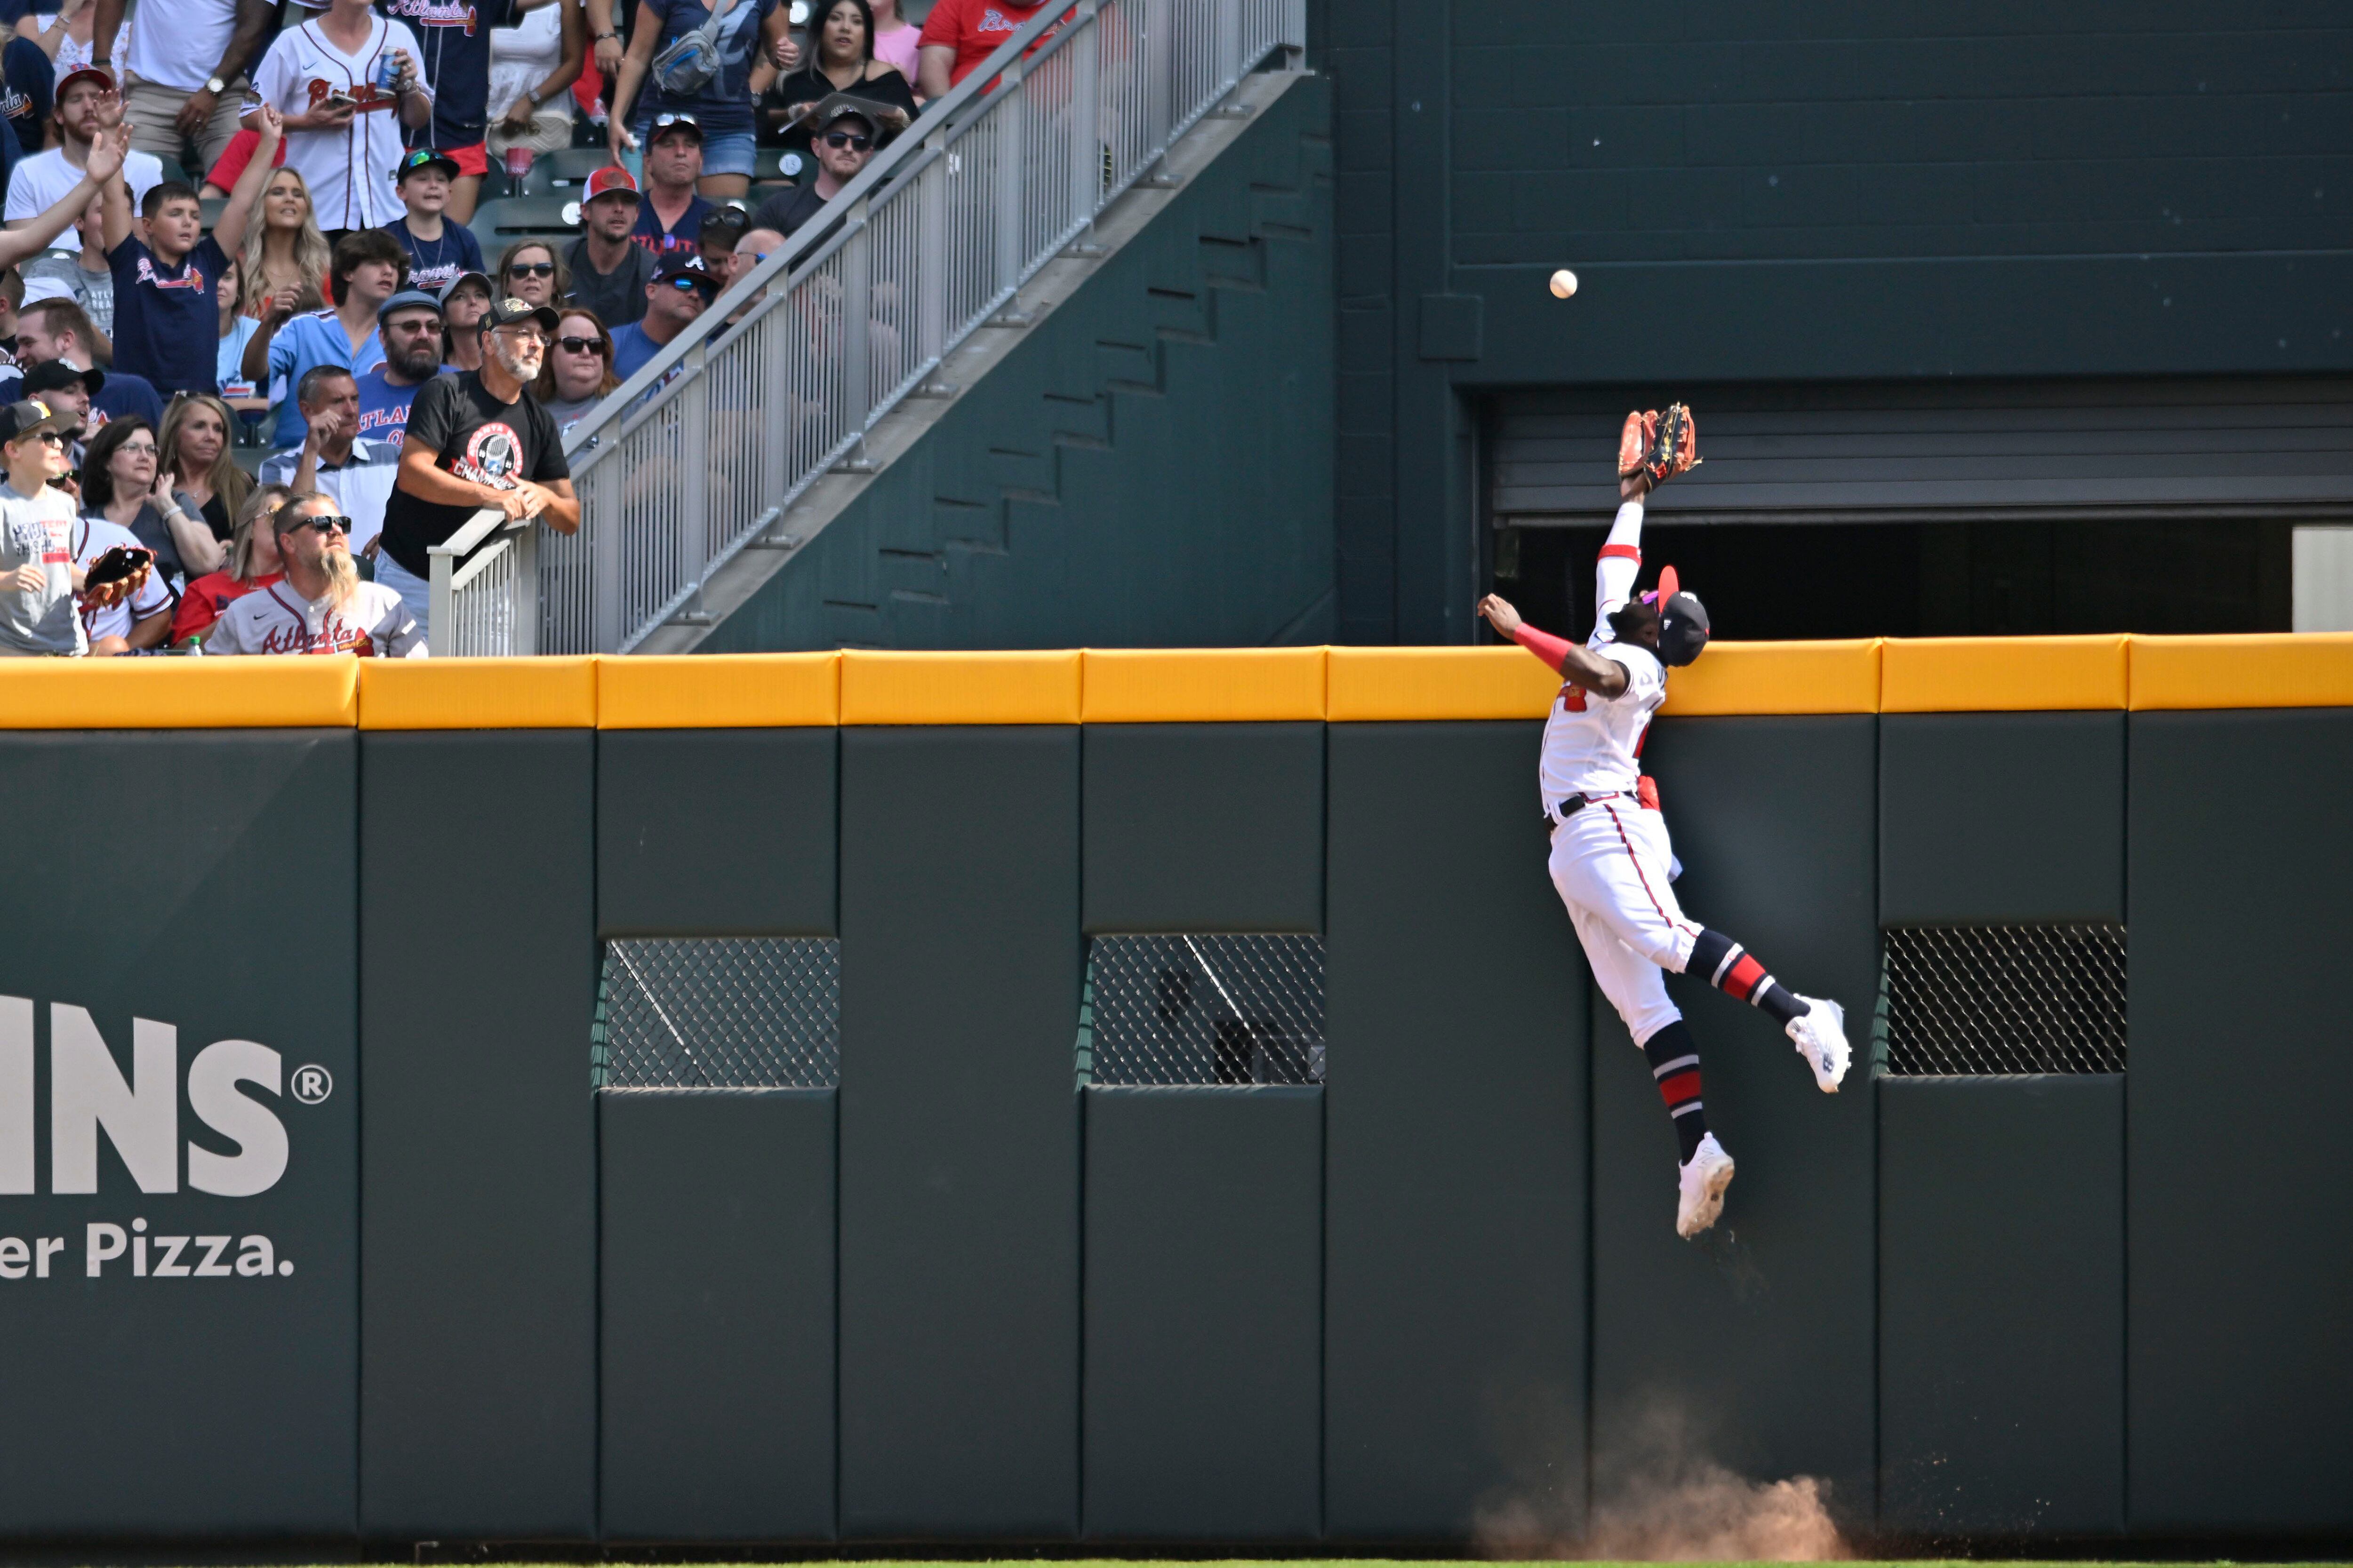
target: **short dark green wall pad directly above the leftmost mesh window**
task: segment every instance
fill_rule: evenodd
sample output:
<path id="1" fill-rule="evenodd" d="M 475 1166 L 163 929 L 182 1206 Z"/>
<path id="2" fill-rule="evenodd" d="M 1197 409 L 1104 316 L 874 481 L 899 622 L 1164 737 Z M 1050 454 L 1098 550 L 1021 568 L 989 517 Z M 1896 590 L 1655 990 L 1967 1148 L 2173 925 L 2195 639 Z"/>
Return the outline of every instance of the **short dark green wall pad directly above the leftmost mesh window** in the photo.
<path id="1" fill-rule="evenodd" d="M 598 933 L 831 936 L 840 731 L 598 733 Z"/>

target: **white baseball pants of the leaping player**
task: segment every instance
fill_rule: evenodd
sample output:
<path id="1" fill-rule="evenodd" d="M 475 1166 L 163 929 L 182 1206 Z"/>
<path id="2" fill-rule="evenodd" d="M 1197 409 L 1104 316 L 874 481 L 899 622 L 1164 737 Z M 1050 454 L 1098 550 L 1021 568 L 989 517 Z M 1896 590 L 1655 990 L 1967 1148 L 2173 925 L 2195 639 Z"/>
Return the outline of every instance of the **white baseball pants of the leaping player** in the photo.
<path id="1" fill-rule="evenodd" d="M 1666 818 L 1631 795 L 1595 799 L 1553 830 L 1553 891 L 1635 1046 L 1682 1018 L 1661 971 L 1682 973 L 1699 940 L 1668 884 L 1673 858 Z"/>

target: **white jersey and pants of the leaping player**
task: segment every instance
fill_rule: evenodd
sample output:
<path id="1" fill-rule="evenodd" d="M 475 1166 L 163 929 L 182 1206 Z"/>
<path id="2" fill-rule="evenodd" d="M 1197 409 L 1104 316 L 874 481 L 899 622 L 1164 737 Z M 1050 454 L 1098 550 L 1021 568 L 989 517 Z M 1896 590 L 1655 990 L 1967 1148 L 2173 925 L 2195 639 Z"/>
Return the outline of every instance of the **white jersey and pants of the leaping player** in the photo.
<path id="1" fill-rule="evenodd" d="M 1699 924 L 1682 917 L 1671 886 L 1675 849 L 1666 818 L 1645 806 L 1642 741 L 1666 701 L 1666 665 L 1645 646 L 1617 642 L 1609 611 L 1633 595 L 1642 567 L 1642 503 L 1619 508 L 1609 543 L 1593 569 L 1593 635 L 1586 646 L 1626 668 L 1626 691 L 1600 698 L 1562 682 L 1544 722 L 1544 813 L 1555 820 L 1548 870 L 1593 980 L 1633 1032 L 1633 1044 L 1682 1018 L 1666 999 L 1661 969 L 1682 971 Z M 1562 802 L 1586 804 L 1567 816 Z"/>

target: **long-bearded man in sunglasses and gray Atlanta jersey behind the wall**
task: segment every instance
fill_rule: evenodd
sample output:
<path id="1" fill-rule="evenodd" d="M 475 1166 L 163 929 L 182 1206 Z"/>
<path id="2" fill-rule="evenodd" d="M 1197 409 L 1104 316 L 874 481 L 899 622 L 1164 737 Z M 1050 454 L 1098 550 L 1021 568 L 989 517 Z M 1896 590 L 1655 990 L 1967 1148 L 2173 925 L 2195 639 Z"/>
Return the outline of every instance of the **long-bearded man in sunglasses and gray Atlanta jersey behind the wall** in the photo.
<path id="1" fill-rule="evenodd" d="M 360 581 L 351 517 L 329 496 L 301 491 L 271 512 L 268 527 L 285 578 L 224 609 L 205 654 L 426 656 L 424 628 L 400 595 Z"/>

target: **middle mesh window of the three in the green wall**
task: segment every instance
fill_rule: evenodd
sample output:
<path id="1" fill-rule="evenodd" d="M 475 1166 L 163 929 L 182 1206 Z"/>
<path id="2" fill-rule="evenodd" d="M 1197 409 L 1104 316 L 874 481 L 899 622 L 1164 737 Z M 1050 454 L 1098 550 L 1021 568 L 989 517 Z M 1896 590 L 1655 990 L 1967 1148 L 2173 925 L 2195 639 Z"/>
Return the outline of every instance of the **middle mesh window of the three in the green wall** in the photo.
<path id="1" fill-rule="evenodd" d="M 1320 936 L 1099 936 L 1080 1084 L 1322 1084 Z"/>

